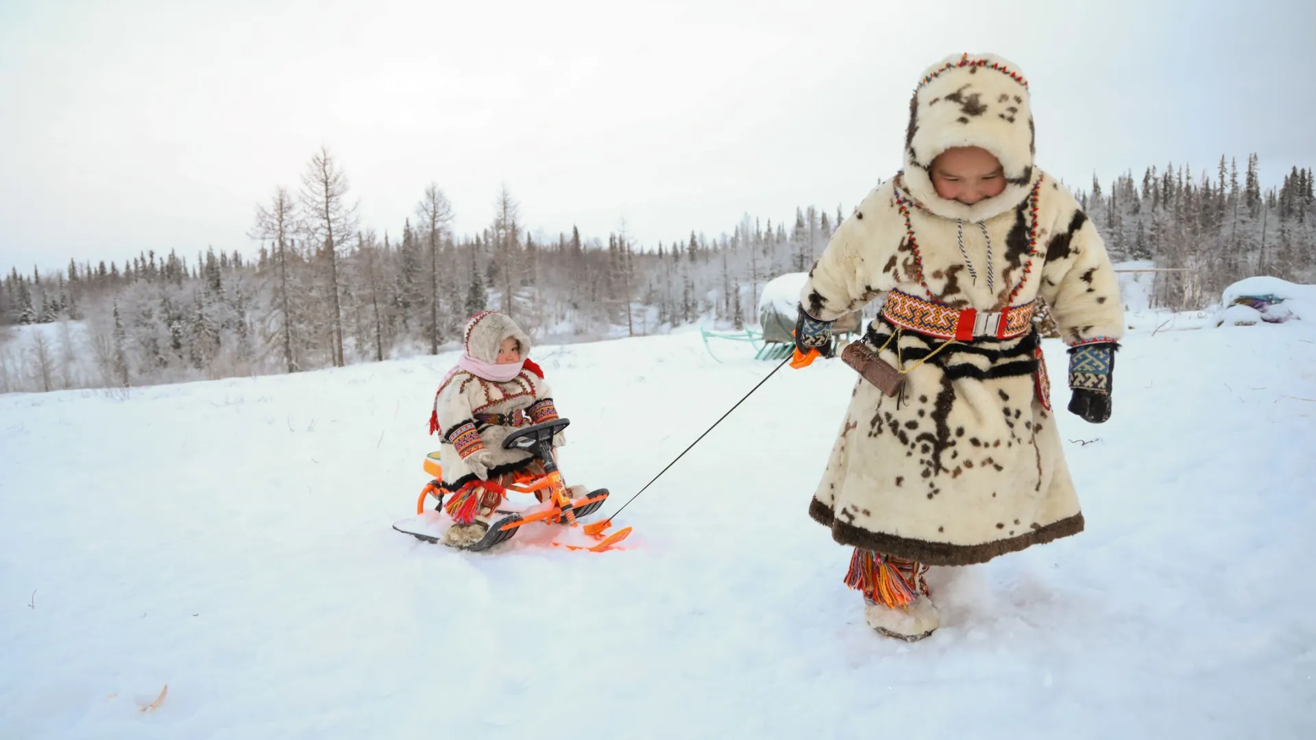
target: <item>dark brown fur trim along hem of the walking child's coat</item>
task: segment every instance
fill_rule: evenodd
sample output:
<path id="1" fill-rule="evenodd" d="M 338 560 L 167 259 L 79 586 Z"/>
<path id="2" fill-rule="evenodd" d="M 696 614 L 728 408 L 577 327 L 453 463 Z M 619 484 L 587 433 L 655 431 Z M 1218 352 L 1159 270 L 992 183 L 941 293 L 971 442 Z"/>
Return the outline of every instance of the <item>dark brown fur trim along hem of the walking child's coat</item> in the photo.
<path id="1" fill-rule="evenodd" d="M 1078 535 L 1083 531 L 1084 525 L 1083 515 L 1075 514 L 1074 516 L 1061 519 L 1017 537 L 983 542 L 980 545 L 951 545 L 949 542 L 930 542 L 928 540 L 870 532 L 853 524 L 837 521 L 832 514 L 832 508 L 817 499 L 809 502 L 809 516 L 819 524 L 830 528 L 832 539 L 842 545 L 866 548 L 882 554 L 915 560 L 925 565 L 975 565 L 987 562 L 1005 553 L 1019 552 L 1032 545 L 1041 545 L 1061 537 Z"/>

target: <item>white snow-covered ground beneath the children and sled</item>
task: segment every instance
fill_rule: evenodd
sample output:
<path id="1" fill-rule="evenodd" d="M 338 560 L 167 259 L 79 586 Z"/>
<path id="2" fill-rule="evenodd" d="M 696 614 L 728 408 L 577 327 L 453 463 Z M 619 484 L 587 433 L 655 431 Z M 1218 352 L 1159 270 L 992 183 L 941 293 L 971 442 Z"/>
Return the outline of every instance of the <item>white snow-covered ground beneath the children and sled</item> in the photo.
<path id="1" fill-rule="evenodd" d="M 1316 324 L 1154 328 L 1109 423 L 1059 415 L 1087 531 L 933 569 L 912 645 L 805 514 L 840 361 L 776 373 L 600 554 L 390 528 L 453 356 L 0 396 L 0 737 L 1313 737 Z M 537 349 L 567 481 L 613 511 L 772 367 L 716 349 Z"/>

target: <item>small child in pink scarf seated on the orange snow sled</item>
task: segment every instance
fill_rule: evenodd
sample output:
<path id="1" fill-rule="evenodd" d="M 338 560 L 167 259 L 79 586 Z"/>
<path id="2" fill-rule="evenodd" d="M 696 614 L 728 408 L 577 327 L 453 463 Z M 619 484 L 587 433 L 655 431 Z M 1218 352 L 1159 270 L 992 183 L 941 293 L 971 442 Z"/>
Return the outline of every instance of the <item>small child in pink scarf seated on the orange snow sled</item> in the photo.
<path id="1" fill-rule="evenodd" d="M 503 449 L 516 428 L 558 417 L 544 370 L 532 361 L 530 338 L 505 313 L 486 311 L 467 321 L 462 358 L 434 394 L 430 433 L 442 438 L 442 485 L 451 492 L 443 508 L 453 527 L 443 544 L 467 546 L 488 531 L 490 520 L 513 483 L 544 477 L 544 465 L 530 453 Z M 563 433 L 553 446 L 563 444 Z M 584 486 L 569 489 L 571 498 Z M 546 490 L 536 498 L 547 495 Z"/>

